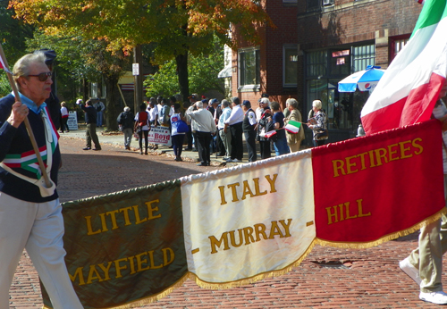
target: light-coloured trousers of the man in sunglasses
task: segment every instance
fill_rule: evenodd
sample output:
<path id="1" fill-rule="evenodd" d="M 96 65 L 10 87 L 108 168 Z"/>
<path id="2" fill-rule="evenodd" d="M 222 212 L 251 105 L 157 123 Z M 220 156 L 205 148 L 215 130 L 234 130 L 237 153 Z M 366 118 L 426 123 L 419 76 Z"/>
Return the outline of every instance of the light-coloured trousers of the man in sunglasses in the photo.
<path id="1" fill-rule="evenodd" d="M 9 308 L 9 288 L 26 248 L 53 308 L 82 309 L 65 266 L 59 199 L 30 203 L 0 192 L 0 211 L 0 308 Z"/>

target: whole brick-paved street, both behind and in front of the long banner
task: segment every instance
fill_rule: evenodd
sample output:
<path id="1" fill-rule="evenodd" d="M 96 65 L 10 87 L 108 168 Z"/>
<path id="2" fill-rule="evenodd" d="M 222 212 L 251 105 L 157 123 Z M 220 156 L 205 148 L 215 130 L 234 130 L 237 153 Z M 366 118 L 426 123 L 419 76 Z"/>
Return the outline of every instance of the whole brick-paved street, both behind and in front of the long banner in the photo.
<path id="1" fill-rule="evenodd" d="M 62 202 L 223 168 L 198 167 L 193 158 L 177 163 L 170 155 L 139 155 L 105 143 L 100 152 L 83 151 L 83 140 L 67 135 L 60 143 Z M 221 290 L 198 288 L 189 280 L 171 295 L 139 308 L 439 308 L 419 301 L 418 287 L 399 269 L 398 262 L 416 246 L 414 234 L 365 250 L 316 246 L 299 267 L 281 277 Z M 445 273 L 443 283 L 447 285 Z M 38 275 L 26 252 L 11 297 L 14 309 L 42 306 Z"/>

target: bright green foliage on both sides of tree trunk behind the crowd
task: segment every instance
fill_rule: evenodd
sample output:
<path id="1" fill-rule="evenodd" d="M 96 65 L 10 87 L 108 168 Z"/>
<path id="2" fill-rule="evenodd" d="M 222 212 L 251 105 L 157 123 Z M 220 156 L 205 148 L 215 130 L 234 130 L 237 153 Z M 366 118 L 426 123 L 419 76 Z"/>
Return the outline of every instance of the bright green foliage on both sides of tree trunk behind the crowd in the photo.
<path id="1" fill-rule="evenodd" d="M 217 90 L 224 94 L 222 79 L 217 74 L 223 65 L 223 50 L 217 45 L 212 54 L 190 56 L 188 75 L 191 93 L 204 93 L 207 90 Z M 173 96 L 179 93 L 177 65 L 174 60 L 164 63 L 156 74 L 145 81 L 148 87 L 147 96 Z"/>

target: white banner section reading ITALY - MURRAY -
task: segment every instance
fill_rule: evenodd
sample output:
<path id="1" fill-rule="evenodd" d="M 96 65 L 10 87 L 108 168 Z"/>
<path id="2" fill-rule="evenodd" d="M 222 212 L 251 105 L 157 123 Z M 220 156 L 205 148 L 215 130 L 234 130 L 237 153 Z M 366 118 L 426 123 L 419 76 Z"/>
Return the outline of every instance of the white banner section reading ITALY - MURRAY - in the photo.
<path id="1" fill-rule="evenodd" d="M 181 178 L 188 269 L 202 287 L 289 271 L 316 236 L 311 151 Z"/>

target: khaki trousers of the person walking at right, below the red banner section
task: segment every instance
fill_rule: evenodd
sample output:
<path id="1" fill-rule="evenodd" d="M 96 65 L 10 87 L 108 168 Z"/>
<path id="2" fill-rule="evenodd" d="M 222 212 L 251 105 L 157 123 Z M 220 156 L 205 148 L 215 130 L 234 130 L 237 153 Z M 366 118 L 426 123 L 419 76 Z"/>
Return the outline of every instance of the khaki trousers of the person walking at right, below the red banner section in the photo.
<path id="1" fill-rule="evenodd" d="M 447 192 L 447 175 L 444 175 L 444 192 Z M 419 270 L 421 292 L 443 290 L 443 254 L 447 251 L 447 217 L 434 221 L 420 230 L 419 247 L 409 254 L 409 263 Z"/>

